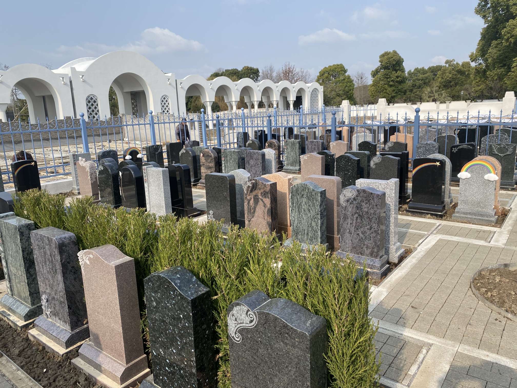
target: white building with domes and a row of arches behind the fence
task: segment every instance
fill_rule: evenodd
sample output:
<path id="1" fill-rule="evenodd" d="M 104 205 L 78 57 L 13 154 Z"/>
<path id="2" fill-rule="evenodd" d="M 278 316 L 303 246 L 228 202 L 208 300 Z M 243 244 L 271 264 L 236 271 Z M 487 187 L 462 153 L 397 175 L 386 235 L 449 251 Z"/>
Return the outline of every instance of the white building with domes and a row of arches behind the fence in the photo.
<path id="1" fill-rule="evenodd" d="M 75 59 L 56 70 L 23 64 L 0 71 L 0 120 L 7 119 L 5 112 L 15 86 L 27 99 L 31 121 L 78 117 L 81 112 L 89 120 L 110 116 L 110 87 L 117 95 L 120 114 L 125 115 L 143 116 L 149 110 L 185 114 L 187 96 L 200 96 L 207 113 L 211 113 L 216 96 L 223 96 L 232 110 L 236 110 L 240 97 L 255 110 L 260 101 L 279 109 L 286 109 L 288 102 L 292 108 L 297 97 L 305 108 L 317 109 L 323 103 L 323 87 L 317 82 L 257 83 L 249 78 L 233 82 L 226 77 L 207 81 L 198 75 L 176 80 L 174 73 L 164 73 L 146 57 L 131 51 Z"/>

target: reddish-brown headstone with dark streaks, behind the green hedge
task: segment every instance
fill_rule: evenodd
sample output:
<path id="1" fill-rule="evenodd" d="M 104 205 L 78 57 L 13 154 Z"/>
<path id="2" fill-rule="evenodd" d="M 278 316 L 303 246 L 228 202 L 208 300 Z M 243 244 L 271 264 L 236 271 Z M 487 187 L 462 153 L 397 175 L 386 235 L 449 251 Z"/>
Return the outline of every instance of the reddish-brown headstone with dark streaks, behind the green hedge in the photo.
<path id="1" fill-rule="evenodd" d="M 244 186 L 246 228 L 276 233 L 278 227 L 277 183 L 264 177 L 250 180 Z"/>

